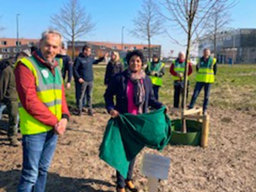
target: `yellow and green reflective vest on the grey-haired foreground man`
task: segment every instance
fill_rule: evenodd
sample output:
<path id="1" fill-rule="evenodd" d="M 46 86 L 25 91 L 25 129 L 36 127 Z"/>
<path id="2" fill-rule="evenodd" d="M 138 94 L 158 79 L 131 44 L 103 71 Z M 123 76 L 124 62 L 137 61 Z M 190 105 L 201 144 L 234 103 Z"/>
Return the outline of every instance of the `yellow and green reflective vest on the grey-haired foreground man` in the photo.
<path id="1" fill-rule="evenodd" d="M 58 66 L 54 68 L 55 75 L 51 71 L 36 60 L 34 56 L 22 58 L 20 62 L 26 65 L 31 71 L 36 81 L 36 95 L 38 99 L 44 103 L 45 107 L 56 116 L 58 120 L 61 119 L 61 97 L 62 97 L 62 77 L 60 60 Z M 20 113 L 20 131 L 22 134 L 38 134 L 50 131 L 53 127 L 42 124 L 31 116 L 26 109 L 19 103 Z"/>

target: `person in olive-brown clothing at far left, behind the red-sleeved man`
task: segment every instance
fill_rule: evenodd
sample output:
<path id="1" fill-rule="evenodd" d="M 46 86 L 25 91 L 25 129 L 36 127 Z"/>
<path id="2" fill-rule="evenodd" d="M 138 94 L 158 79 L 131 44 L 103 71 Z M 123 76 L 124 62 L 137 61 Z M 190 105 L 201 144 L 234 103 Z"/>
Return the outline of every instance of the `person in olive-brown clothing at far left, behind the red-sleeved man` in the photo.
<path id="1" fill-rule="evenodd" d="M 18 95 L 13 68 L 8 60 L 0 62 L 0 105 L 6 105 L 9 117 L 8 138 L 10 145 L 17 147 Z M 1 108 L 1 107 L 0 107 Z"/>

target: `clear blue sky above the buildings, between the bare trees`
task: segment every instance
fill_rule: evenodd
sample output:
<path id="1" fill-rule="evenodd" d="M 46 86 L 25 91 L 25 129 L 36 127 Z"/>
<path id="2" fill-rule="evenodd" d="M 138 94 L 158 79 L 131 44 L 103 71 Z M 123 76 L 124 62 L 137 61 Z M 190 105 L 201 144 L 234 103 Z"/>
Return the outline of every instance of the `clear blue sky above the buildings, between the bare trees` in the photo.
<path id="1" fill-rule="evenodd" d="M 15 38 L 16 14 L 19 16 L 19 36 L 20 38 L 40 38 L 40 34 L 51 26 L 50 16 L 58 13 L 60 7 L 68 0 L 1 0 L 0 6 L 0 26 L 5 29 L 0 31 L 0 37 Z M 121 42 L 121 29 L 125 27 L 124 42 L 135 44 L 147 44 L 147 42 L 129 35 L 128 29 L 133 28 L 132 19 L 136 17 L 141 9 L 142 0 L 81 0 L 86 12 L 90 13 L 93 22 L 96 24 L 95 30 L 80 38 L 88 41 L 108 41 Z M 232 28 L 256 28 L 256 1 L 240 0 L 239 3 L 230 10 L 234 20 Z M 186 36 L 180 35 L 180 30 L 169 28 L 170 35 L 180 42 Z M 184 47 L 173 43 L 166 35 L 156 36 L 152 39 L 153 44 L 161 44 L 163 54 L 166 56 L 170 50 L 177 54 Z"/>

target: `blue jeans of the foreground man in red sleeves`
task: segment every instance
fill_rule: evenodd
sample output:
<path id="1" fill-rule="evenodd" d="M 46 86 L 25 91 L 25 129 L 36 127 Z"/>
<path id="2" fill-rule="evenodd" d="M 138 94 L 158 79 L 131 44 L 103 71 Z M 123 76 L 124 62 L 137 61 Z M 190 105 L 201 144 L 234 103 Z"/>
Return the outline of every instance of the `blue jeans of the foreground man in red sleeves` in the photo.
<path id="1" fill-rule="evenodd" d="M 18 192 L 43 192 L 58 135 L 52 130 L 22 136 L 23 164 Z"/>

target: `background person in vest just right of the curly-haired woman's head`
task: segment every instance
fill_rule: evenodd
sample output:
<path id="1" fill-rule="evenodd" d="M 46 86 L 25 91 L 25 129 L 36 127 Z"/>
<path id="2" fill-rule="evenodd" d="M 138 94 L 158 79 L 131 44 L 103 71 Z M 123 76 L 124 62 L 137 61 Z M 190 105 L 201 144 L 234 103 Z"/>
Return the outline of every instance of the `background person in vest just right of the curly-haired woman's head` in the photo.
<path id="1" fill-rule="evenodd" d="M 150 76 L 153 84 L 154 95 L 158 100 L 159 88 L 163 84 L 162 77 L 164 76 L 164 63 L 160 61 L 156 54 L 153 55 L 153 61 L 148 62 L 145 72 L 148 76 Z"/>

